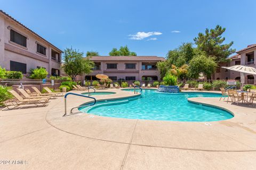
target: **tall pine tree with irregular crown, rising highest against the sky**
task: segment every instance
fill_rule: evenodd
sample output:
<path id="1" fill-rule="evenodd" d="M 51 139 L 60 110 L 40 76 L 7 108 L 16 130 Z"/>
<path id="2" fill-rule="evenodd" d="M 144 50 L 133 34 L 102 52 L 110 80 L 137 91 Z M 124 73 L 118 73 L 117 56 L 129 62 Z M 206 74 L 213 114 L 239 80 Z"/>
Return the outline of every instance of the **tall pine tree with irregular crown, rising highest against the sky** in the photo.
<path id="1" fill-rule="evenodd" d="M 223 44 L 225 37 L 221 37 L 226 28 L 217 25 L 214 29 L 207 29 L 205 33 L 198 33 L 198 37 L 194 38 L 195 44 L 199 50 L 206 52 L 208 56 L 216 57 L 216 62 L 227 62 L 227 57 L 235 53 L 235 49 L 230 47 L 233 41 L 228 44 Z"/>

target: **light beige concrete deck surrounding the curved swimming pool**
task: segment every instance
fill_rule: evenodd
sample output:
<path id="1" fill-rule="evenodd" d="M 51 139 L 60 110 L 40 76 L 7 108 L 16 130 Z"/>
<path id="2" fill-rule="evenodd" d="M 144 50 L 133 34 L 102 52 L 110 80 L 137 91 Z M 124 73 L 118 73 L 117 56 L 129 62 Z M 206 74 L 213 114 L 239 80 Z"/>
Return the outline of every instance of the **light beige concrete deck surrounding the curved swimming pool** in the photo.
<path id="1" fill-rule="evenodd" d="M 103 91 L 103 90 L 98 90 Z M 108 89 L 113 95 L 131 91 Z M 75 91 L 81 94 L 82 91 Z M 68 96 L 68 110 L 91 99 Z M 23 164 L 0 169 L 255 169 L 256 109 L 219 98 L 189 100 L 228 109 L 218 122 L 129 120 L 77 113 L 63 117 L 64 99 L 46 107 L 0 111 L 0 158 Z"/>

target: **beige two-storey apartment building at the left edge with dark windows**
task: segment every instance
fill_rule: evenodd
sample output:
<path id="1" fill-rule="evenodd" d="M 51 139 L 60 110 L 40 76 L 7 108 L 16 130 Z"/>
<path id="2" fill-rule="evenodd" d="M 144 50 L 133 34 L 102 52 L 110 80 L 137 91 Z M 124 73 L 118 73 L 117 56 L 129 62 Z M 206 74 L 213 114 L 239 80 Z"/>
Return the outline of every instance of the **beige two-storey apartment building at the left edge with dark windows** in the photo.
<path id="1" fill-rule="evenodd" d="M 60 75 L 62 51 L 34 31 L 0 10 L 0 66 L 9 71 L 44 67 L 49 75 Z"/>

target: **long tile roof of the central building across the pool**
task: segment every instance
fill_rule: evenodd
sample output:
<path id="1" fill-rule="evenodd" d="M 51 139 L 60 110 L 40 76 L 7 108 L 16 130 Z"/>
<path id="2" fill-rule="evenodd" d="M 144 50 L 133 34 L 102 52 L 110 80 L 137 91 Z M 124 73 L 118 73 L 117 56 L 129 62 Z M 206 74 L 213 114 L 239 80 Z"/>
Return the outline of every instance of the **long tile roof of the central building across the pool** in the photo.
<path id="1" fill-rule="evenodd" d="M 158 56 L 92 56 L 92 61 L 165 61 Z"/>

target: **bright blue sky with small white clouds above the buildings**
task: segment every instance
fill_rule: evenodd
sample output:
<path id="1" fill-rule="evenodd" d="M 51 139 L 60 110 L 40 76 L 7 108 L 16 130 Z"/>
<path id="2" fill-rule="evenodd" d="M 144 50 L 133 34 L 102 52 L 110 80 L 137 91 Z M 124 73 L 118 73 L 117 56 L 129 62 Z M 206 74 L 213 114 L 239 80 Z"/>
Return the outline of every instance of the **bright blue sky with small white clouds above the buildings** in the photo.
<path id="1" fill-rule="evenodd" d="M 226 28 L 239 50 L 256 43 L 256 1 L 2 1 L 1 9 L 52 44 L 108 55 L 127 45 L 137 55 L 168 50 L 205 28 Z"/>

